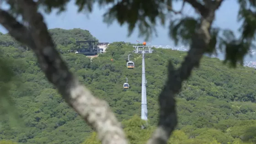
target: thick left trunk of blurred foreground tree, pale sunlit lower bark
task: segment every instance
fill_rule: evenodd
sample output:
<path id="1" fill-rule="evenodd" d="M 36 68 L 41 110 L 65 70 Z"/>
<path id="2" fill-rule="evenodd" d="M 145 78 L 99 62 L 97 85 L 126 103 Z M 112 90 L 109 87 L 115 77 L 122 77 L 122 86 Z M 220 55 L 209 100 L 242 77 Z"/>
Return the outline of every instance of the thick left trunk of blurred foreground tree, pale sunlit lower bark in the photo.
<path id="1" fill-rule="evenodd" d="M 128 144 L 121 124 L 118 123 L 107 102 L 94 97 L 69 72 L 66 64 L 54 48 L 48 28 L 43 22 L 43 16 L 37 12 L 36 3 L 33 0 L 13 1 L 20 6 L 22 16 L 29 23 L 31 31 L 25 31 L 26 27 L 15 21 L 13 17 L 11 18 L 12 21 L 4 21 L 11 17 L 6 15 L 4 11 L 1 11 L 2 15 L 0 15 L 1 24 L 17 40 L 23 43 L 30 40 L 34 42 L 34 44 L 27 43 L 27 45 L 36 53 L 38 62 L 46 77 L 58 88 L 59 93 L 66 102 L 96 130 L 102 144 Z M 23 32 L 31 32 L 32 37 L 29 37 L 29 35 L 25 35 L 27 36 L 25 37 L 22 35 Z"/>

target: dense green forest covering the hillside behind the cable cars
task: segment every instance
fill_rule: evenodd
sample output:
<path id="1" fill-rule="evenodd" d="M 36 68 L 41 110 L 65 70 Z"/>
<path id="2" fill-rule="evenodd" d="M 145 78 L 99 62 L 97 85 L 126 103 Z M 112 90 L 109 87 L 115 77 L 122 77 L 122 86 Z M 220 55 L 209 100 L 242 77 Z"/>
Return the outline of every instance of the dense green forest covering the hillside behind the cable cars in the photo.
<path id="1" fill-rule="evenodd" d="M 154 48 L 154 53 L 145 55 L 149 127 L 141 129 L 142 57 L 132 53 L 133 44 L 111 43 L 106 53 L 90 59 L 70 53 L 76 40 L 95 39 L 89 31 L 49 31 L 70 70 L 123 121 L 131 143 L 144 144 L 157 124 L 158 95 L 168 59 L 178 67 L 186 52 Z M 100 144 L 96 133 L 46 80 L 32 51 L 0 34 L 0 53 L 0 60 L 15 73 L 6 82 L 0 69 L 0 144 Z M 128 54 L 134 69 L 126 67 Z M 170 144 L 255 144 L 255 73 L 242 66 L 230 69 L 219 59 L 205 56 L 176 96 L 178 126 Z M 123 91 L 126 77 L 130 88 Z"/>

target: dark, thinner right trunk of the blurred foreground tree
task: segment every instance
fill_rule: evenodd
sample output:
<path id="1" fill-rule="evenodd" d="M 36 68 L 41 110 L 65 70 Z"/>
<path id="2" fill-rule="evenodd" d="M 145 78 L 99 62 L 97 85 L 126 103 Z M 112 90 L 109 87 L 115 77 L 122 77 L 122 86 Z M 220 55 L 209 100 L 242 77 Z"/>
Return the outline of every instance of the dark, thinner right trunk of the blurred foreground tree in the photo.
<path id="1" fill-rule="evenodd" d="M 222 2 L 222 0 L 218 0 L 219 2 L 214 3 L 211 9 L 206 9 L 196 0 L 186 1 L 197 6 L 197 9 L 201 13 L 203 13 L 203 11 L 208 12 L 201 14 L 201 25 L 197 29 L 195 36 L 192 37 L 191 48 L 184 62 L 181 64 L 181 67 L 175 70 L 171 62 L 169 62 L 168 80 L 159 96 L 160 117 L 158 128 L 155 130 L 152 138 L 149 139 L 147 144 L 167 144 L 171 133 L 175 129 L 177 125 L 177 114 L 174 97 L 181 90 L 182 82 L 187 80 L 191 75 L 192 69 L 199 66 L 203 53 L 206 48 L 208 48 L 211 39 L 209 30 L 214 20 L 215 11 L 219 8 L 220 3 Z"/>

